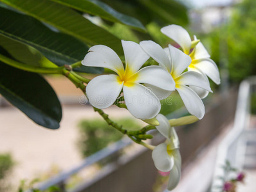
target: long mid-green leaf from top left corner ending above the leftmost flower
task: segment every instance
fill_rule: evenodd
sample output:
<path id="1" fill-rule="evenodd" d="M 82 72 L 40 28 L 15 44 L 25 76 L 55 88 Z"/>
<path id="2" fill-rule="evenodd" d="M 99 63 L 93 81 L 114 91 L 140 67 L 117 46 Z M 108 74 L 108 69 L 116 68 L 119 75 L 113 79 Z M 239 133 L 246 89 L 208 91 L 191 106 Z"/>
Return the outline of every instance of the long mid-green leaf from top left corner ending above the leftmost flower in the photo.
<path id="1" fill-rule="evenodd" d="M 105 29 L 96 26 L 79 13 L 50 0 L 0 0 L 54 28 L 78 38 L 89 45 L 107 45 L 123 54 L 121 41 Z"/>

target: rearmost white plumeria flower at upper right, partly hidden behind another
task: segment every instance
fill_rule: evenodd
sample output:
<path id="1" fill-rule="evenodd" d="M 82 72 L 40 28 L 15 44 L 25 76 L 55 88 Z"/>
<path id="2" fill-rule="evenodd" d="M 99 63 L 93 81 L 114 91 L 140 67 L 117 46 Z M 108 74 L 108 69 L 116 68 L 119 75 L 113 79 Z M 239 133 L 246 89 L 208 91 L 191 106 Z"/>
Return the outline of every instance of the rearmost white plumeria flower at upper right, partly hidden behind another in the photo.
<path id="1" fill-rule="evenodd" d="M 177 25 L 170 25 L 164 28 L 161 28 L 161 32 L 174 40 L 177 44 L 181 46 L 183 52 L 188 54 L 192 59 L 191 64 L 188 66 L 188 70 L 196 71 L 205 77 L 208 81 L 208 77 L 214 81 L 216 84 L 221 83 L 219 77 L 219 69 L 213 60 L 210 59 L 210 55 L 206 51 L 204 45 L 201 42 L 198 42 L 196 47 L 193 46 L 193 41 L 191 40 L 186 29 Z M 196 36 L 194 36 L 194 42 L 197 41 Z M 193 49 L 194 48 L 194 49 Z M 203 99 L 208 95 L 206 90 L 200 88 L 195 88 L 190 86 L 198 95 Z"/>

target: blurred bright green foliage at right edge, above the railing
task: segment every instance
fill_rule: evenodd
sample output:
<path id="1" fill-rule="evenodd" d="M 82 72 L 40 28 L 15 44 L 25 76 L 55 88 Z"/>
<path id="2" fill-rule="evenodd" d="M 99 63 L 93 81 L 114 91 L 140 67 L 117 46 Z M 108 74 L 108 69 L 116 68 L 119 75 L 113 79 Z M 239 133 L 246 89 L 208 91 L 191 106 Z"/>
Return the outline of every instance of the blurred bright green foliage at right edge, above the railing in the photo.
<path id="1" fill-rule="evenodd" d="M 212 59 L 228 61 L 230 79 L 242 81 L 256 75 L 256 2 L 244 0 L 233 8 L 228 24 L 214 31 L 210 36 Z M 221 46 L 221 48 L 219 47 Z"/>

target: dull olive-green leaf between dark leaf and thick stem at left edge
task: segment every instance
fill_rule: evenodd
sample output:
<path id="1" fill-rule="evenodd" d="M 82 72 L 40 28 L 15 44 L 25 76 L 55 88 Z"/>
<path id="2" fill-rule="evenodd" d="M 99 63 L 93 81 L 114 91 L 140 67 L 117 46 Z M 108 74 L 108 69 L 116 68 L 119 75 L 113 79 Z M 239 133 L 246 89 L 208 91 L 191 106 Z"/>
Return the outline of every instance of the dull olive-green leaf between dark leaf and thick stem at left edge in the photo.
<path id="1" fill-rule="evenodd" d="M 0 46 L 18 61 L 35 66 L 41 65 L 41 56 L 33 54 L 28 46 L 24 44 L 0 35 Z"/>

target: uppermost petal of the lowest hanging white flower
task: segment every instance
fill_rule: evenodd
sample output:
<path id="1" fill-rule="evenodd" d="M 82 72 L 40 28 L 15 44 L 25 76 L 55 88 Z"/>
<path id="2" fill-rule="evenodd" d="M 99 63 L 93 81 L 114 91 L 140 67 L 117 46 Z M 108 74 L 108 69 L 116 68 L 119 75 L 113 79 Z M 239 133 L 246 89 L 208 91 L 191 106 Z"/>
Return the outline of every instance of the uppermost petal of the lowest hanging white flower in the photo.
<path id="1" fill-rule="evenodd" d="M 156 116 L 156 119 L 158 120 L 158 122 L 160 123 L 160 125 L 156 126 L 156 129 L 163 135 L 165 136 L 165 138 L 167 138 L 167 140 L 170 140 L 170 131 L 171 131 L 171 127 L 169 124 L 168 119 L 162 115 L 162 114 L 158 114 Z"/>

